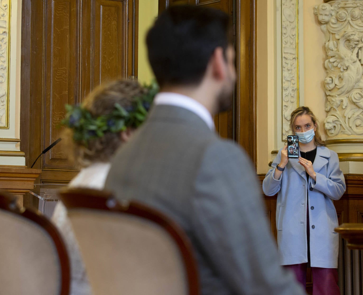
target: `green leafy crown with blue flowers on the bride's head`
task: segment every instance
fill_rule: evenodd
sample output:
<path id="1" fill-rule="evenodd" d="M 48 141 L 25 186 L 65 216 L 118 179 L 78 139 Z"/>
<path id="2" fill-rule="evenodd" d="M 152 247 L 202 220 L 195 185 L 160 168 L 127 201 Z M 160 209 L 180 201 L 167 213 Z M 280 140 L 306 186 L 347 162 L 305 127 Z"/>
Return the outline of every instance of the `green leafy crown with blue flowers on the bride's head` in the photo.
<path id="1" fill-rule="evenodd" d="M 159 86 L 154 81 L 143 87 L 148 91 L 140 97 L 134 97 L 131 106 L 124 108 L 115 103 L 115 108 L 110 114 L 97 118 L 82 105 L 67 104 L 66 116 L 61 125 L 72 129 L 73 140 L 84 146 L 87 146 L 90 139 L 100 138 L 106 132 L 121 132 L 127 127 L 137 128 L 144 122 L 154 96 L 159 91 Z"/>

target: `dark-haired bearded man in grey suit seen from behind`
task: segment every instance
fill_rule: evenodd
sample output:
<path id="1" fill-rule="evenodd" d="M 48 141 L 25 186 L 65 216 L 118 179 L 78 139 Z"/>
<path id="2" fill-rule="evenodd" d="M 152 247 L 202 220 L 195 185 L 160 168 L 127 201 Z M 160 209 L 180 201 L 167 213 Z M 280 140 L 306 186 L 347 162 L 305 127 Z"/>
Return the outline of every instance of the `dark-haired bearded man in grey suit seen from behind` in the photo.
<path id="1" fill-rule="evenodd" d="M 106 189 L 162 210 L 188 234 L 202 294 L 305 294 L 279 264 L 254 168 L 214 132 L 235 82 L 229 17 L 171 7 L 147 36 L 160 86 L 146 122 L 116 153 Z"/>

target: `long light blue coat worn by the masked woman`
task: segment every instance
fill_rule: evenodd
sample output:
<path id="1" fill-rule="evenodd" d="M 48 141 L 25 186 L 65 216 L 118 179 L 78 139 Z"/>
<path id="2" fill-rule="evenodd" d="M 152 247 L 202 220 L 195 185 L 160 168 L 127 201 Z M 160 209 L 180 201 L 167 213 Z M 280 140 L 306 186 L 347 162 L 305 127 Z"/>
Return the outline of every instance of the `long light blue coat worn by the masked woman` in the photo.
<path id="1" fill-rule="evenodd" d="M 312 267 L 337 268 L 339 235 L 333 200 L 339 200 L 346 185 L 336 152 L 318 147 L 313 168 L 316 182 L 306 179 L 297 159 L 289 159 L 280 179 L 274 178 L 281 149 L 262 184 L 267 196 L 277 195 L 276 227 L 282 265 L 307 262 L 306 206 L 309 200 L 310 264 Z"/>

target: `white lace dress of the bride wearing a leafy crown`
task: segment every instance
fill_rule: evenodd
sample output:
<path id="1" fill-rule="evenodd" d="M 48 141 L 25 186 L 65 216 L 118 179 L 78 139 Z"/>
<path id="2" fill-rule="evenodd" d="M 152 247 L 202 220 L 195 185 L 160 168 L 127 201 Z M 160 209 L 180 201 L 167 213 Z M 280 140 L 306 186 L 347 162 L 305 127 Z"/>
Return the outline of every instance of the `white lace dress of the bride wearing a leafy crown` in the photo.
<path id="1" fill-rule="evenodd" d="M 81 169 L 74 179 L 69 183 L 70 187 L 86 187 L 103 189 L 110 163 L 94 163 L 89 167 Z M 74 237 L 72 225 L 67 217 L 67 210 L 62 202 L 58 202 L 52 216 L 52 221 L 61 232 L 66 243 L 70 259 L 70 295 L 92 294 L 85 266 L 79 252 L 78 243 Z"/>

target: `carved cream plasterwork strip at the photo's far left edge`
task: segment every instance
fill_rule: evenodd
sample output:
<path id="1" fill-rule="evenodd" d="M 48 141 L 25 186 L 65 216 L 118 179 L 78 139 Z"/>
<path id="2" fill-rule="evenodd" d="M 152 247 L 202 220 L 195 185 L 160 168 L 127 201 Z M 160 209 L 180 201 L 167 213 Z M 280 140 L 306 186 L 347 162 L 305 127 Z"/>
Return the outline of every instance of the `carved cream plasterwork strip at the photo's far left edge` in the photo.
<path id="1" fill-rule="evenodd" d="M 9 128 L 9 8 L 10 0 L 0 0 L 0 128 Z"/>

